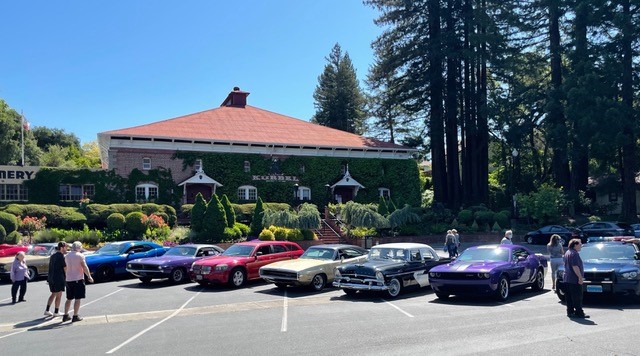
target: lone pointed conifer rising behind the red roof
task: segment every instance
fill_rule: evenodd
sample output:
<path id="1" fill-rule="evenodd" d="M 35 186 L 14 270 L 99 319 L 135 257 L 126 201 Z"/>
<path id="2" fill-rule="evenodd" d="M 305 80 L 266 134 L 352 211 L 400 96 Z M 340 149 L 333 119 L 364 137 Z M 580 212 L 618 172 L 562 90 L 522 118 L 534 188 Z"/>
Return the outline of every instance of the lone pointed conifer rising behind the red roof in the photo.
<path id="1" fill-rule="evenodd" d="M 313 122 L 360 134 L 366 116 L 365 99 L 351 58 L 336 43 L 326 60 L 313 93 L 316 108 Z"/>

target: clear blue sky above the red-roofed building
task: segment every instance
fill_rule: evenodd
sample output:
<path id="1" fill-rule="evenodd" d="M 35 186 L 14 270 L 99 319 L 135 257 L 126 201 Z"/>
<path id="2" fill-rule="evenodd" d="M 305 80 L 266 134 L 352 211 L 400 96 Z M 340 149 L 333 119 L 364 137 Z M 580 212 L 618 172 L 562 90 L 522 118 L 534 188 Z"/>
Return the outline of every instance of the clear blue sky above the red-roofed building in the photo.
<path id="1" fill-rule="evenodd" d="M 0 1 L 0 14 L 0 98 L 83 143 L 218 107 L 234 86 L 309 120 L 333 45 L 362 81 L 382 32 L 360 0 Z"/>

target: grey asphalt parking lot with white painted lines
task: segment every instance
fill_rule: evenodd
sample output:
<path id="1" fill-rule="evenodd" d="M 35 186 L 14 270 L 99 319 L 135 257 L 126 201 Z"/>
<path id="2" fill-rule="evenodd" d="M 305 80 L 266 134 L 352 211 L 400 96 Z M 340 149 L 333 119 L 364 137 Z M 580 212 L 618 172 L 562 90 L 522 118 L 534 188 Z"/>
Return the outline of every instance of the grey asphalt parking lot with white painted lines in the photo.
<path id="1" fill-rule="evenodd" d="M 43 316 L 46 281 L 10 304 L 0 283 L 0 353 L 120 355 L 638 355 L 640 307 L 625 298 L 588 299 L 590 319 L 565 316 L 547 286 L 513 293 L 506 303 L 452 297 L 430 288 L 393 300 L 347 297 L 329 288 L 241 289 L 194 283 L 142 285 L 122 279 L 87 287 L 78 323 Z"/>

